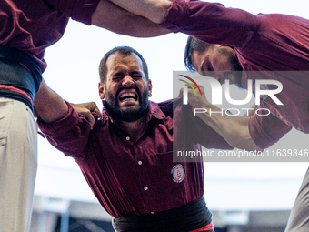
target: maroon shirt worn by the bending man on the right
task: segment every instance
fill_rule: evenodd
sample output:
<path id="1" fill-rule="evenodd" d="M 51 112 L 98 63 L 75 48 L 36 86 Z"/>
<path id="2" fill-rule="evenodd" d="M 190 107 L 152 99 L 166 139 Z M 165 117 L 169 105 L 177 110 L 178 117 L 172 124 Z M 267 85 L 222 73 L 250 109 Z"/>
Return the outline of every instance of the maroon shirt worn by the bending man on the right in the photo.
<path id="1" fill-rule="evenodd" d="M 244 71 L 309 70 L 309 20 L 301 17 L 252 15 L 220 4 L 174 0 L 162 25 L 211 44 L 233 46 Z M 284 106 L 276 106 L 268 97 L 260 107 L 268 108 L 272 115 L 250 118 L 251 136 L 262 148 L 273 145 L 291 126 L 309 133 L 308 73 L 282 74 L 269 78 L 282 83 L 283 91 L 277 97 Z M 254 77 L 244 72 L 244 88 L 248 79 Z"/>

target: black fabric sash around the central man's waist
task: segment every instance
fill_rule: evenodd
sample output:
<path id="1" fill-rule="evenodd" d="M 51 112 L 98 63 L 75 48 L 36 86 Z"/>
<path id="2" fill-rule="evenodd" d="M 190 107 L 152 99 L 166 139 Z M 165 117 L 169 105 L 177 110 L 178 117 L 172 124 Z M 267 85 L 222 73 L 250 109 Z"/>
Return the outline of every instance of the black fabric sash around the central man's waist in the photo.
<path id="1" fill-rule="evenodd" d="M 187 232 L 212 222 L 212 214 L 206 207 L 204 197 L 183 207 L 144 216 L 115 218 L 116 232 Z"/>

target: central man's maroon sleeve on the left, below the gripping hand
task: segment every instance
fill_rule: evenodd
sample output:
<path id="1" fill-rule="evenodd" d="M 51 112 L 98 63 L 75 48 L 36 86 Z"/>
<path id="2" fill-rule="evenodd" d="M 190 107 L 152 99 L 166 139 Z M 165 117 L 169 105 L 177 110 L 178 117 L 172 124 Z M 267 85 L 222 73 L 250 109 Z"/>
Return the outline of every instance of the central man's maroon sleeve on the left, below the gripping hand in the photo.
<path id="1" fill-rule="evenodd" d="M 88 147 L 90 124 L 69 103 L 66 104 L 69 111 L 63 118 L 50 124 L 38 118 L 37 124 L 48 141 L 65 156 L 83 156 Z"/>

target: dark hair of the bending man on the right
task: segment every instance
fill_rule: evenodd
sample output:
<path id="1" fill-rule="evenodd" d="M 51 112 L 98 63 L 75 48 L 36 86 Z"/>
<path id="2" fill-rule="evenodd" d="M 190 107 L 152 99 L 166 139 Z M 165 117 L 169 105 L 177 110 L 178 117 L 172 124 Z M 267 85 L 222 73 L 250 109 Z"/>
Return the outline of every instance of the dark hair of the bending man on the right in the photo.
<path id="1" fill-rule="evenodd" d="M 196 71 L 191 60 L 191 55 L 193 51 L 202 52 L 207 50 L 211 46 L 212 44 L 205 43 L 204 41 L 199 40 L 193 36 L 189 36 L 184 48 L 184 65 L 186 69 L 191 72 Z"/>

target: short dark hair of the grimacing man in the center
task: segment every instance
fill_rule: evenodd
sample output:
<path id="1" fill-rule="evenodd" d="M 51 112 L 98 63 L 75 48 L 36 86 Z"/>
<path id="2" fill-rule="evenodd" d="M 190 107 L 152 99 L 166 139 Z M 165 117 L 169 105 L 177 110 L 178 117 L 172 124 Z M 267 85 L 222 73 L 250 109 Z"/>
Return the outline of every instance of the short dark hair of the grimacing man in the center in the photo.
<path id="1" fill-rule="evenodd" d="M 100 62 L 99 75 L 100 75 L 100 81 L 103 84 L 105 84 L 105 82 L 106 82 L 106 74 L 107 74 L 106 62 L 107 62 L 107 59 L 110 55 L 115 54 L 115 53 L 120 53 L 121 55 L 124 55 L 124 56 L 132 55 L 132 54 L 137 55 L 142 60 L 145 79 L 146 80 L 149 79 L 148 66 L 147 66 L 147 63 L 145 62 L 144 57 L 142 55 L 140 55 L 135 49 L 133 49 L 130 46 L 116 46 L 113 49 L 109 50 Z"/>

